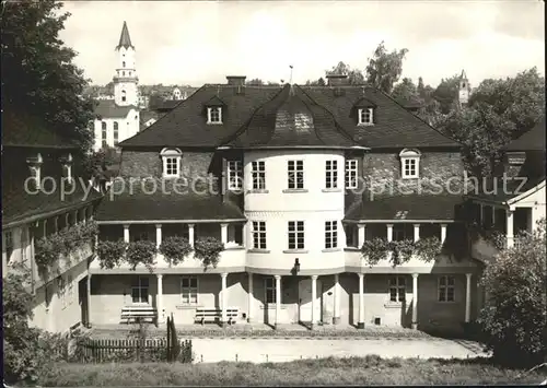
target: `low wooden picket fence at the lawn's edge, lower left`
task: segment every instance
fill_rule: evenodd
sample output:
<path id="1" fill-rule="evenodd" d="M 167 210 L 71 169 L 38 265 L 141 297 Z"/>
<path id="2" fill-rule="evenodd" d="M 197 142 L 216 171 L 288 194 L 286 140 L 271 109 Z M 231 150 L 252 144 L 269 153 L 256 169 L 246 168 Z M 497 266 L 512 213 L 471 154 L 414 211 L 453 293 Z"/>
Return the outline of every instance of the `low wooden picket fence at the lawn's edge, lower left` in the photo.
<path id="1" fill-rule="evenodd" d="M 191 363 L 191 340 L 179 340 L 181 353 L 177 362 Z M 78 358 L 82 363 L 108 362 L 166 362 L 165 339 L 109 340 L 83 338 L 77 344 Z"/>

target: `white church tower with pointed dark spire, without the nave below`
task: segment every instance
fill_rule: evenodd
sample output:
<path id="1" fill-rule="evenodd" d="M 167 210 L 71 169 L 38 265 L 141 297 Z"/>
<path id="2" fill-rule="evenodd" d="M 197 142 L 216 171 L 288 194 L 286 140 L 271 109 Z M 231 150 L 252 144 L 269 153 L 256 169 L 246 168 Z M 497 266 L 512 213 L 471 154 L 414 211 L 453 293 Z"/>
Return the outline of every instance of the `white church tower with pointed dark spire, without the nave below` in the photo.
<path id="1" fill-rule="evenodd" d="M 135 46 L 129 37 L 127 23 L 124 22 L 118 46 L 116 46 L 118 64 L 114 75 L 114 101 L 118 106 L 138 106 L 139 90 L 137 84 L 139 78 L 135 69 Z"/>

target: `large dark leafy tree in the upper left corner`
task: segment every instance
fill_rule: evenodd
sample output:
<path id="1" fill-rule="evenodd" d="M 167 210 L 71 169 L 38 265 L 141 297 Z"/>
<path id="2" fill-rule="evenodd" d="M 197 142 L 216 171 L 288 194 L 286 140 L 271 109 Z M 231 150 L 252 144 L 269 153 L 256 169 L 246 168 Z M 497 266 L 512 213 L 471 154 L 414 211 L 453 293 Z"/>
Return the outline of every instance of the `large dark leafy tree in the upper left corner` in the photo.
<path id="1" fill-rule="evenodd" d="M 1 7 L 3 109 L 39 117 L 88 151 L 93 102 L 83 97 L 88 81 L 72 63 L 75 51 L 59 39 L 70 14 L 59 14 L 62 4 L 54 0 L 3 1 Z"/>

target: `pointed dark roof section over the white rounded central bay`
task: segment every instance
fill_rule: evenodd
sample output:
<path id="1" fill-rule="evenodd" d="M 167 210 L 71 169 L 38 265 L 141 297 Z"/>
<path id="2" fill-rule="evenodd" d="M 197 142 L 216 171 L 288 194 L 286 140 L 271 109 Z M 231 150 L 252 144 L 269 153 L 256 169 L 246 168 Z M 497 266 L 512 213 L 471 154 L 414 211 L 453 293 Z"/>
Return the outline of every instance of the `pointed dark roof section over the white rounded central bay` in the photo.
<path id="1" fill-rule="evenodd" d="M 354 146 L 334 116 L 298 87 L 286 85 L 226 142 L 234 148 Z"/>

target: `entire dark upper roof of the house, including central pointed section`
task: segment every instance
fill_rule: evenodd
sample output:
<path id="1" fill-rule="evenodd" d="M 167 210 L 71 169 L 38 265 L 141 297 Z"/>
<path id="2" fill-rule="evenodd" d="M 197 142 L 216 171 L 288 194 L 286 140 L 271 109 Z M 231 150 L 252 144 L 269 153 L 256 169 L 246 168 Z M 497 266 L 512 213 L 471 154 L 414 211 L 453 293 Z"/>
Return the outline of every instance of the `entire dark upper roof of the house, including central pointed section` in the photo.
<path id="1" fill-rule="evenodd" d="M 314 119 L 315 143 L 318 143 L 321 136 L 326 145 L 359 144 L 372 149 L 459 148 L 457 142 L 373 87 L 293 85 L 292 93 L 290 85 L 235 87 L 206 84 L 154 126 L 125 140 L 119 146 L 217 148 L 232 141 L 235 141 L 235 145 L 244 145 L 243 138 L 247 138 L 246 145 L 269 141 L 292 146 L 293 137 L 289 136 L 288 143 L 282 144 L 277 129 L 284 128 L 290 133 L 287 122 L 284 127 L 280 126 L 282 111 L 287 114 L 293 109 L 293 105 L 299 105 L 299 109 L 305 110 Z M 208 125 L 203 106 L 213 97 L 225 104 L 222 108 L 222 124 Z M 358 125 L 356 104 L 363 98 L 375 106 L 373 126 Z M 291 115 L 289 114 L 294 117 Z M 276 124 L 278 119 L 280 121 Z M 294 126 L 295 121 L 292 122 Z M 327 126 L 330 128 L 326 128 Z M 238 140 L 235 140 L 235 136 L 238 136 Z M 305 144 L 303 137 L 299 139 L 299 144 Z"/>

